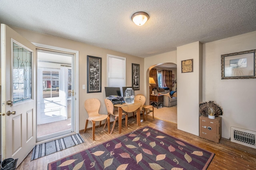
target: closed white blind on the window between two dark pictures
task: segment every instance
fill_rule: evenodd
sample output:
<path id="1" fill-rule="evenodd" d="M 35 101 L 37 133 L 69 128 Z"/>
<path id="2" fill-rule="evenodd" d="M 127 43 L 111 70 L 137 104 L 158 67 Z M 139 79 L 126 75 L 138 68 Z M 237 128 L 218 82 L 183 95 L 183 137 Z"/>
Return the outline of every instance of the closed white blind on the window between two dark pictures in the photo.
<path id="1" fill-rule="evenodd" d="M 126 58 L 108 54 L 108 87 L 125 87 Z"/>

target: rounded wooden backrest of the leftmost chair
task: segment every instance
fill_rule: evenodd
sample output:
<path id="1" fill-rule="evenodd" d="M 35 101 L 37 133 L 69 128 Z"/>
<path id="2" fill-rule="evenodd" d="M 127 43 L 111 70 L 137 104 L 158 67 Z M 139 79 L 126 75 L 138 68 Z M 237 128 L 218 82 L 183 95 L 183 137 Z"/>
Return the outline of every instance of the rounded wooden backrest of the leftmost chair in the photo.
<path id="1" fill-rule="evenodd" d="M 94 115 L 99 115 L 99 110 L 100 110 L 100 101 L 99 99 L 87 99 L 84 102 L 84 108 L 87 111 L 89 117 L 94 116 Z"/>

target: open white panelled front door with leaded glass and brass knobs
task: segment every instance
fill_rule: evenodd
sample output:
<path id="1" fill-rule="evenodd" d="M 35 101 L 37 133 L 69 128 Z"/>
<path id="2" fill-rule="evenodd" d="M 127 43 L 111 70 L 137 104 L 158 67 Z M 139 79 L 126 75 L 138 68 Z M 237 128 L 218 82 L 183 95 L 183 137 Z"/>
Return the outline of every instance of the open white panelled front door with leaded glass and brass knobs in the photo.
<path id="1" fill-rule="evenodd" d="M 2 159 L 17 166 L 36 144 L 36 47 L 1 24 Z"/>

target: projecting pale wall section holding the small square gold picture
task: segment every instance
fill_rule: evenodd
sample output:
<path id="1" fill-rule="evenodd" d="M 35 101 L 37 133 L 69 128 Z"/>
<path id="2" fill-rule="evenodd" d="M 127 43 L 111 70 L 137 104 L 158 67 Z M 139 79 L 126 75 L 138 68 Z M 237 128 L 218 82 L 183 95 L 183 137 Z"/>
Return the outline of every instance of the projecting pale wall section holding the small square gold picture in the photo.
<path id="1" fill-rule="evenodd" d="M 202 100 L 200 51 L 200 42 L 177 47 L 177 128 L 195 135 L 199 135 L 199 103 Z M 181 73 L 181 61 L 187 59 L 193 59 L 193 72 Z"/>

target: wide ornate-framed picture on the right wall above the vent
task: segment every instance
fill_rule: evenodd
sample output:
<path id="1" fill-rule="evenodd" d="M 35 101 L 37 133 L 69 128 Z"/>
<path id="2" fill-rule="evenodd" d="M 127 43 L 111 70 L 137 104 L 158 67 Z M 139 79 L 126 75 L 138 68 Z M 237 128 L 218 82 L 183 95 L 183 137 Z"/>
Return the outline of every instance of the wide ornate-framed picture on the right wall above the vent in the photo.
<path id="1" fill-rule="evenodd" d="M 255 79 L 256 49 L 221 55 L 221 79 Z"/>

